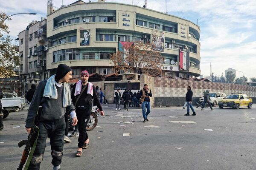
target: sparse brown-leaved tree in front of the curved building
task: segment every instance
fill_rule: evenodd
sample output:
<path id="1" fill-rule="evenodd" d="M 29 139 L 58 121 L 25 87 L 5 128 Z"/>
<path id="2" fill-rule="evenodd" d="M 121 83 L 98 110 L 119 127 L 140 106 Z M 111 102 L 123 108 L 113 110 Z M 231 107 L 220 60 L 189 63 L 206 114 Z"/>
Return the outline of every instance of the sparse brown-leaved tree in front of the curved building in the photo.
<path id="1" fill-rule="evenodd" d="M 141 70 L 143 74 L 156 77 L 162 71 L 163 57 L 159 52 L 151 49 L 150 43 L 143 44 L 140 41 L 127 43 L 123 50 L 111 55 L 110 60 L 116 74 L 121 71 L 138 73 Z"/>

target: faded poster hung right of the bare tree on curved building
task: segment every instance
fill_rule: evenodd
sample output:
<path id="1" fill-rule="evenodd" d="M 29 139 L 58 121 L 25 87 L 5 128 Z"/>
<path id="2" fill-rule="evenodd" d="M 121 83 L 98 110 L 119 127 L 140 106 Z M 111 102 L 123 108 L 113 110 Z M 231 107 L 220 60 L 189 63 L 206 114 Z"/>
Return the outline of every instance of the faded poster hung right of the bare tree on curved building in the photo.
<path id="1" fill-rule="evenodd" d="M 163 51 L 164 47 L 164 33 L 152 31 L 151 48 L 155 51 Z"/>

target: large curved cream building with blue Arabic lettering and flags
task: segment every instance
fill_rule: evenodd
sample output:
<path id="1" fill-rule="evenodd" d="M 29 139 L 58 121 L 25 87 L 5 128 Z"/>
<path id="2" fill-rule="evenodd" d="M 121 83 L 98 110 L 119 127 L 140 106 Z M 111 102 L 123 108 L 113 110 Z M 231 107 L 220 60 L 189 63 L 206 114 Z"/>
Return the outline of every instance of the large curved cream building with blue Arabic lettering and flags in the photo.
<path id="1" fill-rule="evenodd" d="M 201 73 L 199 26 L 148 8 L 79 0 L 54 11 L 49 3 L 47 38 L 51 40 L 45 48 L 50 75 L 61 63 L 73 68 L 75 75 L 83 69 L 111 74 L 109 56 L 118 51 L 119 42 L 152 44 L 156 39 L 160 43 L 155 50 L 164 57 L 162 77 L 191 78 Z"/>

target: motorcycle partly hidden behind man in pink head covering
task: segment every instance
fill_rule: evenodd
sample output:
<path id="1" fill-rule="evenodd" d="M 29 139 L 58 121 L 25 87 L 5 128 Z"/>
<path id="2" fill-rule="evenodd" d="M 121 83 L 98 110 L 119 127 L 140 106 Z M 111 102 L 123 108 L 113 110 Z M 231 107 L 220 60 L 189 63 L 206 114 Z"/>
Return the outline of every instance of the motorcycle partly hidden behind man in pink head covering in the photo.
<path id="1" fill-rule="evenodd" d="M 98 124 L 98 116 L 99 116 L 99 108 L 97 106 L 92 107 L 92 111 L 90 113 L 90 120 L 87 123 L 86 130 L 93 130 Z M 69 130 L 73 131 L 74 126 L 72 126 L 71 116 L 69 117 Z"/>

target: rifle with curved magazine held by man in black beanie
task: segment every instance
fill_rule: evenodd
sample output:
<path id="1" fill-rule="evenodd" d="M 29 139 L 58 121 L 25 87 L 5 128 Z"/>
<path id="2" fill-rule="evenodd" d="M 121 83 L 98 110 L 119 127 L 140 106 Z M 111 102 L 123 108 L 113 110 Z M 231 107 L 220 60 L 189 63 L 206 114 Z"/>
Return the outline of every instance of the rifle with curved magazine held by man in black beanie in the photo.
<path id="1" fill-rule="evenodd" d="M 33 153 L 35 151 L 35 146 L 36 146 L 36 142 L 37 142 L 38 135 L 39 135 L 39 128 L 37 125 L 39 122 L 39 117 L 40 117 L 41 111 L 42 111 L 42 106 L 39 106 L 38 112 L 36 113 L 34 121 L 33 121 L 34 127 L 31 128 L 28 139 L 20 141 L 18 143 L 19 147 L 22 147 L 23 145 L 26 145 L 26 146 L 25 146 L 25 149 L 23 150 L 20 164 L 19 164 L 19 167 L 17 168 L 17 170 L 22 170 L 24 164 L 26 163 L 28 156 L 29 156 L 29 159 L 26 163 L 25 169 L 27 169 L 29 166 L 29 163 L 30 163 Z M 31 148 L 31 150 L 30 150 L 30 148 Z"/>

